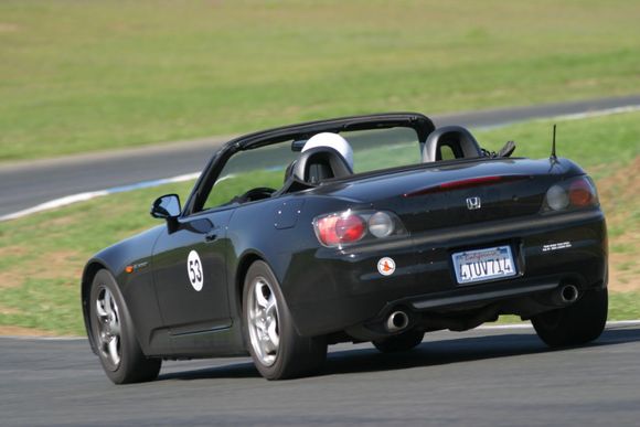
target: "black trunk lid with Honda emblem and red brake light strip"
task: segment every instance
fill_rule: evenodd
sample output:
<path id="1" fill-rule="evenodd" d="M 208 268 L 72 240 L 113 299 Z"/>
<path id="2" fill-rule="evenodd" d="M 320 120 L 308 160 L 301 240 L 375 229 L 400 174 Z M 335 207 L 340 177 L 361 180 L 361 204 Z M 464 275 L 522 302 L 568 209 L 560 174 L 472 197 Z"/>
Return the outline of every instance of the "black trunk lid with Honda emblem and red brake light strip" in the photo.
<path id="1" fill-rule="evenodd" d="M 316 192 L 393 211 L 419 233 L 535 214 L 554 182 L 580 173 L 564 159 L 482 159 L 354 177 Z"/>

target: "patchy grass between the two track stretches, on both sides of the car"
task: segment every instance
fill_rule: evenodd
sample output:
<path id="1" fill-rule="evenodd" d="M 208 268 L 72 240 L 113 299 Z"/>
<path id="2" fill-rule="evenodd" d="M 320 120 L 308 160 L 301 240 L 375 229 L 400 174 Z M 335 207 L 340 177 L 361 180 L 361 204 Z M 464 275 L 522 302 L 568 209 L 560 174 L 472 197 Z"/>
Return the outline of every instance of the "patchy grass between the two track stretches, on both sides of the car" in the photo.
<path id="1" fill-rule="evenodd" d="M 550 121 L 535 121 L 478 137 L 491 149 L 515 139 L 516 153 L 546 157 L 550 134 Z M 640 114 L 561 121 L 558 140 L 558 153 L 594 172 L 600 189 L 611 249 L 610 318 L 639 319 L 640 202 L 634 193 L 640 180 Z M 86 259 L 136 232 L 161 225 L 148 214 L 150 202 L 170 192 L 184 200 L 191 185 L 120 193 L 0 223 L 0 329 L 82 334 L 78 284 Z"/>

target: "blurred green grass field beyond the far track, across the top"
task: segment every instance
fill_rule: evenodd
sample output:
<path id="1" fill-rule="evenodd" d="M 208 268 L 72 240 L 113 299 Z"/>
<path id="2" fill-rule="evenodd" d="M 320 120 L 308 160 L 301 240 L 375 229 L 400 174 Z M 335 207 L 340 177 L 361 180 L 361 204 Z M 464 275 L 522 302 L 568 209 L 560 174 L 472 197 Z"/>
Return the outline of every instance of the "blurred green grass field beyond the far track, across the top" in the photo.
<path id="1" fill-rule="evenodd" d="M 640 2 L 0 2 L 0 162 L 348 114 L 626 95 Z"/>

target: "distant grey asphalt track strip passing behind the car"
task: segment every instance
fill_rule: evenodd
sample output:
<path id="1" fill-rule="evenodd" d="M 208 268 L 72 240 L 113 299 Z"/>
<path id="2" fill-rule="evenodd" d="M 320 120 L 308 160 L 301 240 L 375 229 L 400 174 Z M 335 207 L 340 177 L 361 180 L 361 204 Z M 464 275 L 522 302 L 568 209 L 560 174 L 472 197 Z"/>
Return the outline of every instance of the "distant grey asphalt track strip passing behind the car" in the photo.
<path id="1" fill-rule="evenodd" d="M 436 115 L 437 126 L 471 128 L 640 105 L 640 95 Z M 428 111 L 427 111 L 428 113 Z M 0 217 L 63 196 L 199 172 L 228 138 L 0 166 Z"/>

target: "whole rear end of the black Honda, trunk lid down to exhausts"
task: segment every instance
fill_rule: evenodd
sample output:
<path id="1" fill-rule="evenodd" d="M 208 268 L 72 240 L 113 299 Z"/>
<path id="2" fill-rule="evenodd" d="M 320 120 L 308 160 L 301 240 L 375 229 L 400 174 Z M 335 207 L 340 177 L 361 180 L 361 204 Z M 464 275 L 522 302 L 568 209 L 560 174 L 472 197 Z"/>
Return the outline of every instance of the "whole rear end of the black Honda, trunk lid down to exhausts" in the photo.
<path id="1" fill-rule="evenodd" d="M 466 330 L 606 287 L 604 214 L 568 160 L 455 161 L 332 185 L 318 193 L 344 203 L 313 216 L 320 245 L 295 255 L 284 284 L 301 334 Z"/>

